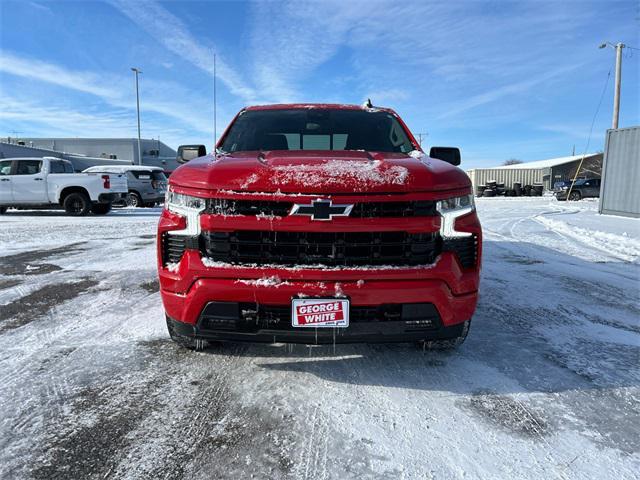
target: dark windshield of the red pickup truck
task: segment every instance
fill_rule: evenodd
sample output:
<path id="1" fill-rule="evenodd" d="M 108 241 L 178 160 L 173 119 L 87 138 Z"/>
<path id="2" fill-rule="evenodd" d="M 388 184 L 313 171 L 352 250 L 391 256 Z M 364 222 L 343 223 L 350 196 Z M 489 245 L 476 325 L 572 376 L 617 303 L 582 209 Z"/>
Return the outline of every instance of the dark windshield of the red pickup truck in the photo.
<path id="1" fill-rule="evenodd" d="M 413 144 L 388 112 L 338 109 L 248 110 L 221 145 L 255 150 L 368 150 L 408 153 Z"/>

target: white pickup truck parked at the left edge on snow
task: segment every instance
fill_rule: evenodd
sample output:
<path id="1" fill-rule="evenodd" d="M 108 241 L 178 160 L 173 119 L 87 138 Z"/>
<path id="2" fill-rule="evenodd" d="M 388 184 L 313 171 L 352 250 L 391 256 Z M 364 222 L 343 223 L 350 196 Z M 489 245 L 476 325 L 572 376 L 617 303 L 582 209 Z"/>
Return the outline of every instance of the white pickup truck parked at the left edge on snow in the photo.
<path id="1" fill-rule="evenodd" d="M 74 173 L 60 158 L 0 159 L 0 214 L 9 207 L 61 205 L 69 215 L 104 215 L 127 192 L 124 175 Z"/>

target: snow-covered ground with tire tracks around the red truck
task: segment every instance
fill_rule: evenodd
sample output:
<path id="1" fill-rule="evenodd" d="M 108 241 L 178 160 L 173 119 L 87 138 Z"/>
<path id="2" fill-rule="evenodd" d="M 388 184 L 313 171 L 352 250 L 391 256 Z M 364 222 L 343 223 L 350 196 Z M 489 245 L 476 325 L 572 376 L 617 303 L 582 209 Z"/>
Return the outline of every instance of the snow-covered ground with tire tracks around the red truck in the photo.
<path id="1" fill-rule="evenodd" d="M 1 478 L 637 478 L 640 223 L 481 199 L 455 353 L 166 335 L 158 210 L 0 217 Z M 634 473 L 635 472 L 635 473 Z"/>

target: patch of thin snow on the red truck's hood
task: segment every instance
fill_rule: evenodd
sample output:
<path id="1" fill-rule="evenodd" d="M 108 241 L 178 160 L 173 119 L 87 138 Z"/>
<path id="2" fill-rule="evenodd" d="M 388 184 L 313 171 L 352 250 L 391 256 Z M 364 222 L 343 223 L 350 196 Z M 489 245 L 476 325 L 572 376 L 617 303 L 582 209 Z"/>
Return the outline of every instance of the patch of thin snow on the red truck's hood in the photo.
<path id="1" fill-rule="evenodd" d="M 354 182 L 361 187 L 403 185 L 409 170 L 387 165 L 380 160 L 359 162 L 329 160 L 321 165 L 279 165 L 273 168 L 274 183 L 301 183 L 309 187 L 327 187 Z"/>

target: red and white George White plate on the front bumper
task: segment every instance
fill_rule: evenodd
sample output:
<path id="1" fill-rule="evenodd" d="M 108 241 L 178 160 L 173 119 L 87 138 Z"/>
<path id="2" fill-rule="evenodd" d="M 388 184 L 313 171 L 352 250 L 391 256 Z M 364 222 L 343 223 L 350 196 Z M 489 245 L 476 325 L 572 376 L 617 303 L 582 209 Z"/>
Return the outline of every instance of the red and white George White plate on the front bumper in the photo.
<path id="1" fill-rule="evenodd" d="M 294 328 L 346 328 L 349 326 L 348 298 L 292 298 L 291 326 Z"/>

